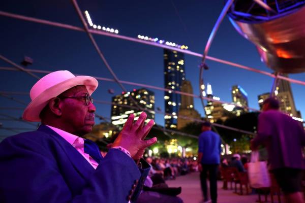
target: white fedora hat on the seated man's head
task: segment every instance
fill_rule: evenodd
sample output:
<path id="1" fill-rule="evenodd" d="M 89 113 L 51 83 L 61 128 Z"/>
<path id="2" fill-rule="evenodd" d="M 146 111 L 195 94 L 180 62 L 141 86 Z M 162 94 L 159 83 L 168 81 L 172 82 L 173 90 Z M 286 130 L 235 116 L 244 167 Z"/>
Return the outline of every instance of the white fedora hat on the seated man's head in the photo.
<path id="1" fill-rule="evenodd" d="M 99 82 L 90 76 L 74 76 L 69 71 L 55 71 L 44 76 L 29 92 L 32 101 L 25 108 L 22 118 L 26 121 L 41 121 L 39 114 L 48 101 L 77 85 L 85 85 L 91 95 Z"/>

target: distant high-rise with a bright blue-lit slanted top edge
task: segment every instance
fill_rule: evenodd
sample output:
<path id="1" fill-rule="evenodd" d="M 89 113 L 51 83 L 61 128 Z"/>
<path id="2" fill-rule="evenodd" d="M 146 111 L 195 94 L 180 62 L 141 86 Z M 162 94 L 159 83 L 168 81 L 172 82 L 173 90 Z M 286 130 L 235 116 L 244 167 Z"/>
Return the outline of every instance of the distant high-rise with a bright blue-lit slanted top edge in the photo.
<path id="1" fill-rule="evenodd" d="M 236 116 L 240 116 L 240 114 L 248 112 L 247 108 L 243 108 L 248 107 L 247 92 L 243 90 L 242 87 L 240 87 L 239 85 L 234 85 L 232 86 L 231 93 L 233 103 L 237 105 L 234 110 Z"/>

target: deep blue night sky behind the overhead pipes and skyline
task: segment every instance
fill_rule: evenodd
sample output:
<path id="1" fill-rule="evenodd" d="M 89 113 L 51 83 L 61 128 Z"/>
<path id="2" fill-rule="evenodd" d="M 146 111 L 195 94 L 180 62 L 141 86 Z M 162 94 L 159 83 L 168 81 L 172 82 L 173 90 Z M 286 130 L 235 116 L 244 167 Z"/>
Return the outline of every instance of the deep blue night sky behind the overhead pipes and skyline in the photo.
<path id="1" fill-rule="evenodd" d="M 88 10 L 95 24 L 112 27 L 119 34 L 137 38 L 145 35 L 189 46 L 189 50 L 203 53 L 206 41 L 223 6 L 224 1 L 78 1 L 82 12 Z M 82 26 L 70 1 L 2 1 L 0 10 L 75 26 Z M 33 22 L 27 22 L 0 16 L 0 50 L 10 60 L 20 63 L 23 56 L 34 59 L 29 69 L 69 70 L 74 74 L 112 78 L 100 59 L 88 36 L 84 32 L 68 30 Z M 164 87 L 163 50 L 158 47 L 94 35 L 100 49 L 120 80 L 133 81 Z M 242 38 L 226 17 L 212 43 L 209 56 L 218 57 L 256 69 L 272 72 L 260 61 L 253 44 Z M 199 94 L 198 75 L 201 58 L 185 56 L 186 79 L 193 85 L 194 93 Z M 237 67 L 207 60 L 210 69 L 204 72 L 204 81 L 212 85 L 215 96 L 231 101 L 231 86 L 238 84 L 249 95 L 249 105 L 258 109 L 257 96 L 269 92 L 273 79 Z M 0 61 L 0 66 L 11 67 Z M 0 91 L 29 92 L 36 79 L 21 72 L 0 71 Z M 44 76 L 43 74 L 37 74 Z M 291 78 L 304 81 L 305 74 L 290 75 Z M 128 90 L 140 87 L 125 85 Z M 111 101 L 108 89 L 114 94 L 121 93 L 116 83 L 99 81 L 99 87 L 93 94 L 95 99 Z M 304 89 L 292 84 L 297 110 L 305 116 Z M 164 92 L 153 90 L 156 95 L 156 107 L 164 111 Z M 28 95 L 13 95 L 16 99 L 29 103 Z M 0 107 L 21 107 L 4 97 L 0 97 Z M 110 117 L 110 106 L 96 104 L 99 115 Z M 200 100 L 195 98 L 195 109 L 203 116 Z M 21 110 L 0 110 L 1 117 L 10 115 L 20 117 Z M 164 115 L 157 114 L 156 122 L 164 125 Z M 26 123 L 1 120 L 4 127 L 33 128 Z M 96 123 L 100 121 L 96 119 Z M 15 134 L 0 129 L 0 140 L 4 136 Z"/>

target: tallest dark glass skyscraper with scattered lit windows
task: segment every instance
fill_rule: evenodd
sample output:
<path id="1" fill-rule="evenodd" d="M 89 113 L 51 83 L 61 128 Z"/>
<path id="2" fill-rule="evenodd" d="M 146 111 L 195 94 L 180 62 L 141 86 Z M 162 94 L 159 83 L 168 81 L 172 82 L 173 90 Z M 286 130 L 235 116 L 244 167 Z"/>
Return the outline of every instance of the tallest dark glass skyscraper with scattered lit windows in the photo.
<path id="1" fill-rule="evenodd" d="M 186 79 L 184 54 L 164 49 L 164 87 L 180 91 L 182 81 Z M 181 95 L 165 91 L 165 128 L 177 128 L 177 115 L 181 105 Z M 175 116 L 175 117 L 174 117 Z"/>

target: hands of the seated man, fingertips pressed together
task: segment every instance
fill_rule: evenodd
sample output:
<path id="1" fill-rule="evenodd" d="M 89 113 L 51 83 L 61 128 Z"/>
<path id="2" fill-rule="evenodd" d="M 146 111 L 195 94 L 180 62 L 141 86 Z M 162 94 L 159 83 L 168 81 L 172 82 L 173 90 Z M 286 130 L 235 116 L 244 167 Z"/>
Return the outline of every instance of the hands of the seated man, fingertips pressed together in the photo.
<path id="1" fill-rule="evenodd" d="M 157 142 L 157 138 L 144 140 L 154 125 L 154 120 L 150 120 L 145 125 L 146 113 L 142 112 L 138 120 L 134 123 L 134 114 L 130 114 L 123 129 L 115 139 L 111 147 L 124 147 L 127 149 L 131 157 L 137 162 L 143 156 L 145 148 Z"/>

